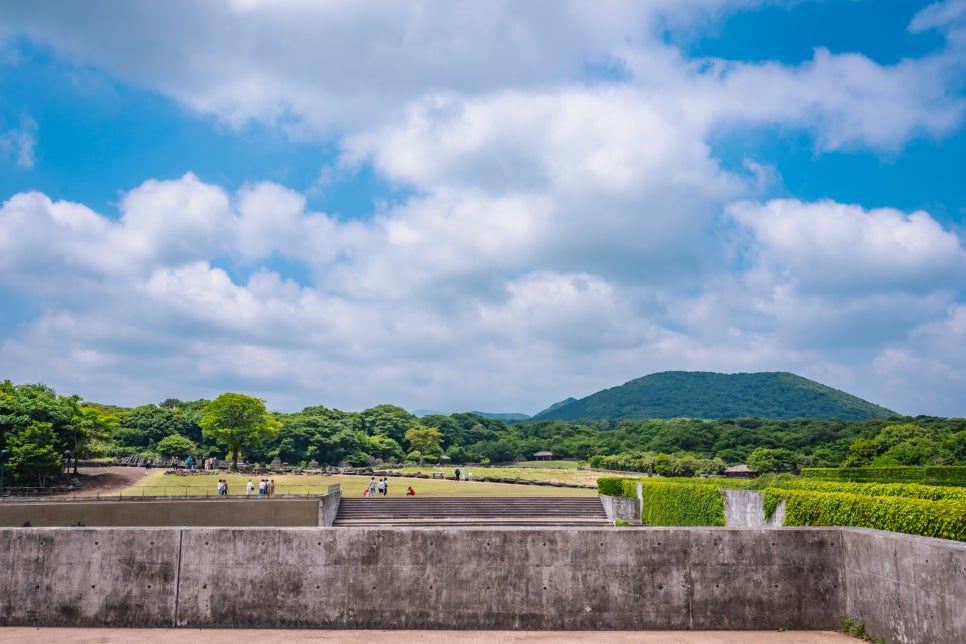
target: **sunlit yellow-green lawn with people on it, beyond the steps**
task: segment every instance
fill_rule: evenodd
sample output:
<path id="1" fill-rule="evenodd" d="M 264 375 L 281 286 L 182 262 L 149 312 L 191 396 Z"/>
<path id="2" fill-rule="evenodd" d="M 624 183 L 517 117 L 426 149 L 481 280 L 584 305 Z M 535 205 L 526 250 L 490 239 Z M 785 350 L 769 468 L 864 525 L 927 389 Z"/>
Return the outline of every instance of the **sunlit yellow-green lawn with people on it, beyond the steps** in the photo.
<path id="1" fill-rule="evenodd" d="M 411 468 L 414 472 L 417 468 Z M 455 468 L 454 468 L 455 469 Z M 435 471 L 423 468 L 424 473 Z M 506 473 L 503 468 L 467 469 L 474 476 L 500 476 L 512 478 L 514 475 Z M 522 471 L 522 470 L 521 470 Z M 479 472 L 479 474 L 477 474 Z M 484 474 L 483 472 L 494 472 Z M 538 478 L 534 474 L 538 470 L 525 470 L 529 480 L 552 480 Z M 449 473 L 452 476 L 452 472 Z M 231 496 L 244 496 L 248 479 L 257 486 L 259 477 L 249 477 L 245 474 L 225 474 L 212 472 L 194 476 L 177 476 L 166 474 L 163 470 L 156 470 L 146 475 L 134 485 L 121 491 L 121 496 L 217 496 L 218 479 L 228 480 L 228 492 Z M 368 476 L 316 476 L 307 474 L 283 474 L 270 476 L 275 479 L 275 494 L 325 494 L 330 485 L 342 485 L 342 494 L 346 497 L 362 497 L 369 483 Z M 413 486 L 417 496 L 447 497 L 447 496 L 596 496 L 596 489 L 551 487 L 544 485 L 515 485 L 509 483 L 485 483 L 479 481 L 453 481 L 440 479 L 415 479 L 407 477 L 389 477 L 389 496 L 405 496 L 406 488 Z"/>

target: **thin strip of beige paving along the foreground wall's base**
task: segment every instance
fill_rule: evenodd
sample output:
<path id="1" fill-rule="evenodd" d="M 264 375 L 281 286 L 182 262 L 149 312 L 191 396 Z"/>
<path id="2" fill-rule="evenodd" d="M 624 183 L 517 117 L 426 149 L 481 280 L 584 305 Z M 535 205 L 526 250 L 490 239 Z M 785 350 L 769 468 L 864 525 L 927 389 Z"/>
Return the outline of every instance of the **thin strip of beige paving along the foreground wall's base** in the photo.
<path id="1" fill-rule="evenodd" d="M 844 644 L 853 637 L 835 631 L 318 631 L 189 628 L 0 628 L 0 642 L 44 644 L 238 644 L 249 642 L 392 642 L 392 644 Z"/>

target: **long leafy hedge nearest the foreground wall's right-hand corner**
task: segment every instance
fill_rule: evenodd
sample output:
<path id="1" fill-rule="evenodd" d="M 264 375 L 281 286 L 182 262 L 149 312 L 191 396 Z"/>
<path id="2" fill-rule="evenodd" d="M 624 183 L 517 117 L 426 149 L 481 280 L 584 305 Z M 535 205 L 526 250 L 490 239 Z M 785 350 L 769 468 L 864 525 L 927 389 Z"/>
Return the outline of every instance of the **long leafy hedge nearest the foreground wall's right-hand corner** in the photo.
<path id="1" fill-rule="evenodd" d="M 966 541 L 966 503 L 766 488 L 765 515 L 785 502 L 786 526 L 854 526 Z"/>

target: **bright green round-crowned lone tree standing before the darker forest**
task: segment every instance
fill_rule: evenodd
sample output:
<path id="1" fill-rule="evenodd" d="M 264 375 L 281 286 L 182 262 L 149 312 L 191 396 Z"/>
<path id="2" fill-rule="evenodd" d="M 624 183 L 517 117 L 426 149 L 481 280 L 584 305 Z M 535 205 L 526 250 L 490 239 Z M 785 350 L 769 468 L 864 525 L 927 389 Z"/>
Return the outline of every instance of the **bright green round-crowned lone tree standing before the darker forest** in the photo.
<path id="1" fill-rule="evenodd" d="M 228 448 L 231 469 L 238 469 L 242 447 L 278 433 L 281 424 L 268 415 L 265 401 L 244 394 L 222 394 L 205 405 L 201 430 Z"/>

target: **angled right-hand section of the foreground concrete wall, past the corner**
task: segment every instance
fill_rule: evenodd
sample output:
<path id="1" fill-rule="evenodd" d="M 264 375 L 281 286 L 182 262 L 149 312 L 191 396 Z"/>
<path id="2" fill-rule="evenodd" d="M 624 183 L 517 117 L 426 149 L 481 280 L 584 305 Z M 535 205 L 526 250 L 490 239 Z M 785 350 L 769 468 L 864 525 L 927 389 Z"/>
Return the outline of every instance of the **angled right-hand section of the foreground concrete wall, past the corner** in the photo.
<path id="1" fill-rule="evenodd" d="M 890 644 L 966 642 L 966 543 L 843 530 L 846 614 Z"/>

